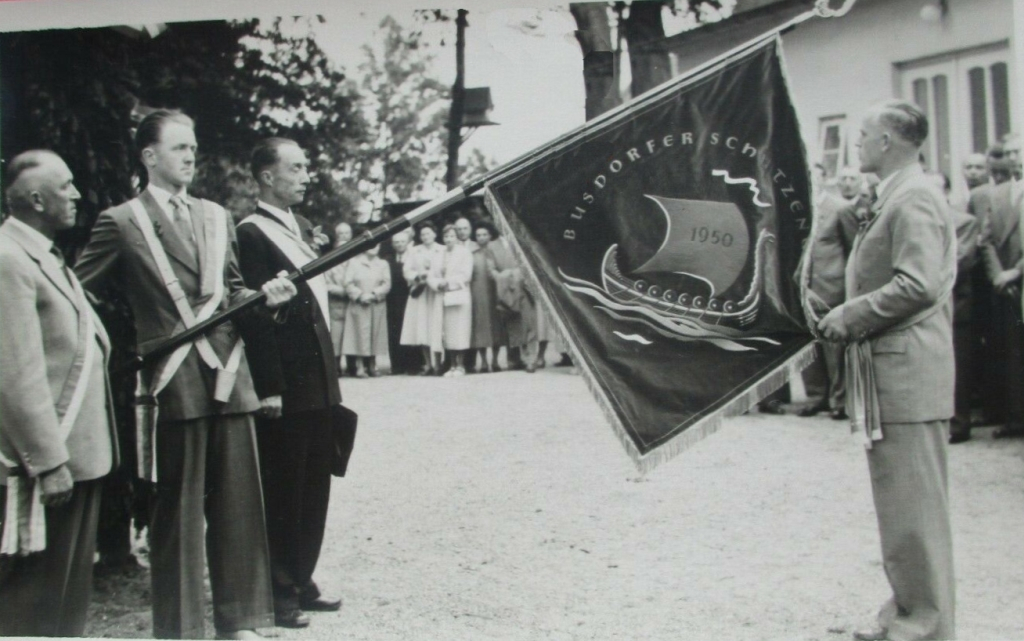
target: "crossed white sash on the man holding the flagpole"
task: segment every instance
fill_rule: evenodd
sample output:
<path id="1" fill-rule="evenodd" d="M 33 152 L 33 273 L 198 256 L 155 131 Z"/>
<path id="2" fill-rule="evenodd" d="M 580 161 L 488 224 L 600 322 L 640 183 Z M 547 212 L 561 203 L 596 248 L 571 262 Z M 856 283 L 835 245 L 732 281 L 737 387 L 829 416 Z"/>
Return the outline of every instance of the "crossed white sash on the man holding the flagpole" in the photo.
<path id="1" fill-rule="evenodd" d="M 164 281 L 167 293 L 174 301 L 174 306 L 181 317 L 181 323 L 184 324 L 185 328 L 190 328 L 197 323 L 202 323 L 212 316 L 224 298 L 223 273 L 224 261 L 227 257 L 227 217 L 224 210 L 220 206 L 211 204 L 214 238 L 212 243 L 206 244 L 205 264 L 207 271 L 203 274 L 210 277 L 204 277 L 203 282 L 204 284 L 212 285 L 213 292 L 199 313 L 196 313 L 188 303 L 187 295 L 181 289 L 181 284 L 178 283 L 178 279 L 174 274 L 174 269 L 167 258 L 167 252 L 164 251 L 163 244 L 157 239 L 157 232 L 153 228 L 153 221 L 150 220 L 150 216 L 146 214 L 142 203 L 138 199 L 134 199 L 129 202 L 129 205 L 131 206 L 135 221 L 142 230 L 142 237 L 150 248 L 150 253 L 157 263 L 157 269 Z M 207 224 L 210 224 L 210 222 L 208 221 Z M 231 390 L 234 389 L 239 365 L 242 361 L 243 343 L 241 340 L 234 342 L 234 347 L 231 348 L 231 353 L 227 357 L 226 364 L 220 361 L 220 357 L 217 356 L 217 352 L 210 345 L 210 341 L 205 336 L 201 336 L 194 342 L 178 347 L 163 364 L 158 366 L 154 373 L 153 381 L 148 385 L 145 384 L 143 373 L 139 373 L 138 387 L 135 392 L 138 473 L 140 477 L 154 482 L 157 481 L 157 439 L 155 436 L 157 419 L 159 417 L 157 395 L 171 382 L 174 374 L 184 361 L 185 356 L 188 355 L 193 345 L 196 346 L 203 361 L 217 372 L 217 380 L 213 393 L 214 400 L 227 402 L 231 396 Z"/>

